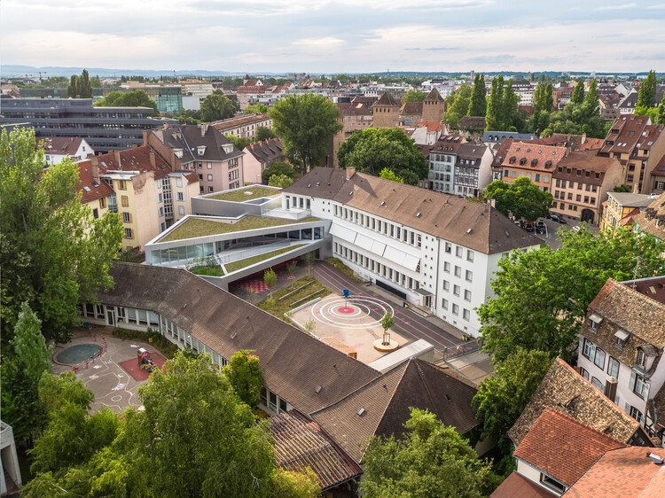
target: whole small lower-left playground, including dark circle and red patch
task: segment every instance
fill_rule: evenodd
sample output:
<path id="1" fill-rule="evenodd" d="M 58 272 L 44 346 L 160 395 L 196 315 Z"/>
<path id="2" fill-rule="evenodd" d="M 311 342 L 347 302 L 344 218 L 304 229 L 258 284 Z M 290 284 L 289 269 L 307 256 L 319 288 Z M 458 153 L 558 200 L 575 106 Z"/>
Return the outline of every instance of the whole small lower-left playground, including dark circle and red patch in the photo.
<path id="1" fill-rule="evenodd" d="M 112 327 L 77 330 L 70 342 L 56 346 L 53 352 L 53 373 L 74 371 L 95 394 L 92 411 L 107 407 L 120 412 L 129 406 L 139 407 L 137 388 L 149 376 L 148 360 L 152 368 L 165 362 L 152 345 L 113 337 L 112 331 Z M 140 349 L 144 351 L 139 354 Z"/>

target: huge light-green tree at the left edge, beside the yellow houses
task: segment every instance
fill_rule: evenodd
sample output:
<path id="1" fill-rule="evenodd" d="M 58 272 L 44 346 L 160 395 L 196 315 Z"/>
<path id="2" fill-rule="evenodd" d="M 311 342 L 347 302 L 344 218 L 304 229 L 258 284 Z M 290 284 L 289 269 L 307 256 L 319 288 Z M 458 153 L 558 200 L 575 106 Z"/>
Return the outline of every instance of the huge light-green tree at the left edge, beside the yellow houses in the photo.
<path id="1" fill-rule="evenodd" d="M 43 172 L 35 130 L 0 137 L 0 317 L 13 330 L 24 301 L 43 323 L 44 337 L 65 340 L 81 323 L 78 303 L 108 288 L 121 248 L 118 214 L 93 219 L 83 206 L 78 167 L 70 160 Z M 4 338 L 11 338 L 6 333 Z"/>

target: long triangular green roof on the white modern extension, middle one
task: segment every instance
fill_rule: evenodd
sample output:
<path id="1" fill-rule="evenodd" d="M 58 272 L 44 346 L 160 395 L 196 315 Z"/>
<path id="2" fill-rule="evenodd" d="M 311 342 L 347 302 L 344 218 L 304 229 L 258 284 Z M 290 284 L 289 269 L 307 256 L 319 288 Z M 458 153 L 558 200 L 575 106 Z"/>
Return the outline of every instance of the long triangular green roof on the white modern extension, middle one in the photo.
<path id="1" fill-rule="evenodd" d="M 283 225 L 294 225 L 297 223 L 317 222 L 318 218 L 309 217 L 302 220 L 278 220 L 277 218 L 262 218 L 261 216 L 244 216 L 235 223 L 213 222 L 201 218 L 187 218 L 176 230 L 171 231 L 158 242 L 170 242 L 184 238 L 206 237 L 208 235 L 219 235 L 244 230 L 266 229 L 270 227 L 281 227 Z"/>

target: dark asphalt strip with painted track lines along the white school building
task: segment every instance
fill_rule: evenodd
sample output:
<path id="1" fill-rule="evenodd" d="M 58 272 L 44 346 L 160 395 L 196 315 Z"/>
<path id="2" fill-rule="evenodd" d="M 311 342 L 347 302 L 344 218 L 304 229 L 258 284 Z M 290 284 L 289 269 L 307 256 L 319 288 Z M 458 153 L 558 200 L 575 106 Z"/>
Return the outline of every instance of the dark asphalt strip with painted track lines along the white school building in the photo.
<path id="1" fill-rule="evenodd" d="M 369 296 L 378 300 L 386 300 L 386 298 L 377 292 L 372 292 L 372 286 L 359 284 L 340 271 L 336 270 L 329 263 L 325 261 L 317 261 L 312 273 L 317 277 L 317 280 L 328 287 L 332 292 L 341 295 L 342 289 L 348 289 L 351 292 L 351 297 Z M 422 338 L 432 344 L 436 349 L 444 349 L 450 346 L 458 346 L 462 344 L 460 338 L 450 334 L 450 332 L 443 331 L 436 327 L 433 323 L 426 320 L 425 317 L 417 315 L 411 310 L 404 307 L 395 308 L 395 326 L 393 330 L 403 335 L 404 337 L 413 340 Z M 381 318 L 378 313 L 371 312 L 372 317 L 375 319 Z"/>

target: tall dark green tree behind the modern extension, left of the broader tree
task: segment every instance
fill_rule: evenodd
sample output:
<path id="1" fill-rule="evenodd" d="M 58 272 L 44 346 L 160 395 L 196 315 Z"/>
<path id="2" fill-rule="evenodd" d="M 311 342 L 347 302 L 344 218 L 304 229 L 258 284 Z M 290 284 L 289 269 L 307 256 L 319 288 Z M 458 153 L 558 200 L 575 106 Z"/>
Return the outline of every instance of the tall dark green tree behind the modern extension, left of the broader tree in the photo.
<path id="1" fill-rule="evenodd" d="M 311 93 L 278 101 L 270 109 L 270 117 L 286 157 L 303 173 L 325 164 L 332 137 L 342 129 L 337 106 Z"/>

